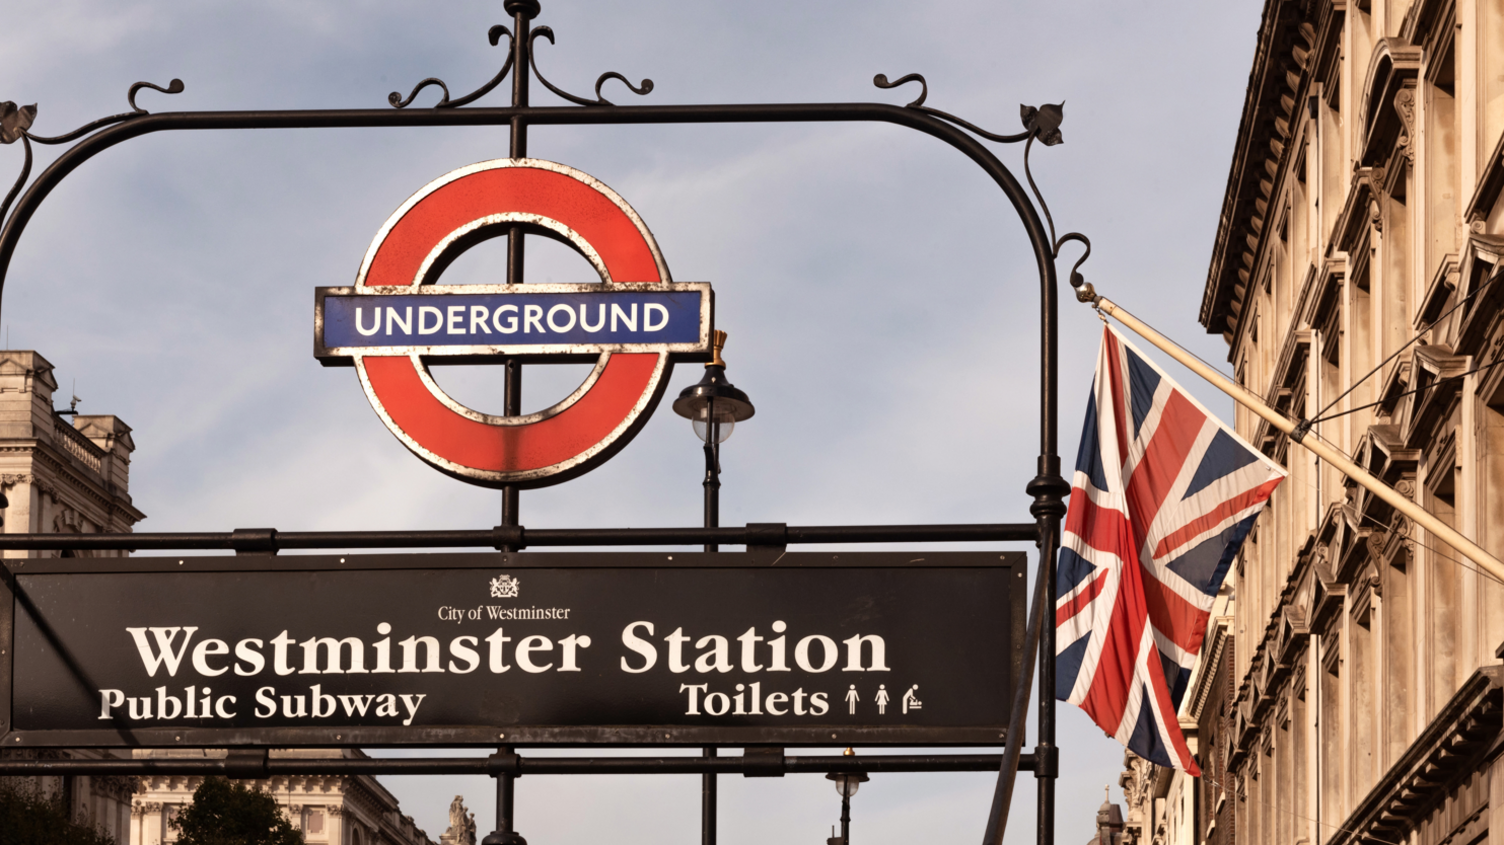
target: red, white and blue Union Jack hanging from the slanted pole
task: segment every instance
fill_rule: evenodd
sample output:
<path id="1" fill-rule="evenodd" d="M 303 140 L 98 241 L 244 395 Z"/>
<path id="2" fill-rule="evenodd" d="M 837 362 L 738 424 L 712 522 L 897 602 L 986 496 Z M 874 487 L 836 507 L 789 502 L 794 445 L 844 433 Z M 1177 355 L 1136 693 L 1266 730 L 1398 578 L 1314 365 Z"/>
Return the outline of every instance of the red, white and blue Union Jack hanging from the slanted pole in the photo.
<path id="1" fill-rule="evenodd" d="M 1212 600 L 1284 471 L 1108 328 L 1056 580 L 1056 698 L 1193 776 L 1178 711 Z"/>

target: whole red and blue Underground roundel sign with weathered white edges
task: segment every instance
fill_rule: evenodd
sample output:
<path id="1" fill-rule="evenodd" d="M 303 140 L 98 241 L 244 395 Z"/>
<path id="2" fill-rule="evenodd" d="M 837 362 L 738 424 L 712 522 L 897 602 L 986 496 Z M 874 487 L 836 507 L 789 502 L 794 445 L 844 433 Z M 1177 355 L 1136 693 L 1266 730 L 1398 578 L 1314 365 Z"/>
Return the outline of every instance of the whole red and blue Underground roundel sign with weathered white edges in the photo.
<path id="1" fill-rule="evenodd" d="M 460 253 L 522 226 L 573 247 L 600 284 L 436 284 Z M 352 365 L 414 454 L 490 487 L 541 487 L 608 460 L 653 413 L 675 361 L 708 361 L 713 295 L 674 283 L 615 191 L 579 170 L 498 159 L 435 179 L 376 233 L 352 287 L 320 287 L 314 356 Z M 594 361 L 585 382 L 525 416 L 465 407 L 429 362 Z"/>

